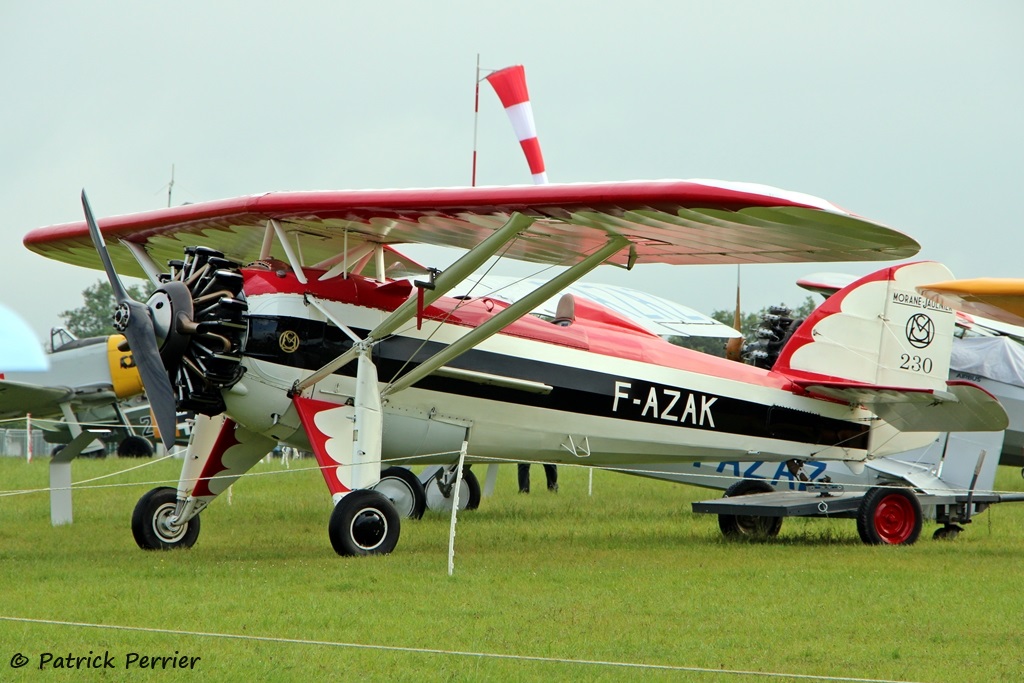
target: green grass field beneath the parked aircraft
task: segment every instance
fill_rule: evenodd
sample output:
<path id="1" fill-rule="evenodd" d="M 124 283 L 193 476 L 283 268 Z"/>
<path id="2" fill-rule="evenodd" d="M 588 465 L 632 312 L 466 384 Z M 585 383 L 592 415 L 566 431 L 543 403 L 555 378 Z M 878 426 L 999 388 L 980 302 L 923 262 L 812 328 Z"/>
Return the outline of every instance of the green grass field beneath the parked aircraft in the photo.
<path id="1" fill-rule="evenodd" d="M 74 479 L 137 464 L 79 461 Z M 459 516 L 449 577 L 450 518 L 438 513 L 404 521 L 390 556 L 335 555 L 323 479 L 302 469 L 311 465 L 258 465 L 230 504 L 203 514 L 188 551 L 143 552 L 129 527 L 139 496 L 176 482 L 177 461 L 76 489 L 68 526 L 50 525 L 46 493 L 0 498 L 0 679 L 1024 675 L 1024 506 L 994 507 L 953 542 L 932 541 L 926 525 L 908 548 L 863 546 L 850 520 L 786 520 L 773 542 L 729 543 L 714 517 L 689 511 L 715 492 L 595 472 L 588 496 L 587 471 L 562 468 L 559 494 L 520 496 L 507 466 L 495 496 Z M 45 487 L 47 468 L 0 458 L 0 488 Z M 1016 470 L 998 484 L 1022 487 Z M 54 673 L 54 659 L 39 670 L 44 653 L 90 650 L 116 668 Z M 125 668 L 133 653 L 176 652 L 201 658 L 191 670 Z M 17 653 L 22 669 L 10 665 Z"/>

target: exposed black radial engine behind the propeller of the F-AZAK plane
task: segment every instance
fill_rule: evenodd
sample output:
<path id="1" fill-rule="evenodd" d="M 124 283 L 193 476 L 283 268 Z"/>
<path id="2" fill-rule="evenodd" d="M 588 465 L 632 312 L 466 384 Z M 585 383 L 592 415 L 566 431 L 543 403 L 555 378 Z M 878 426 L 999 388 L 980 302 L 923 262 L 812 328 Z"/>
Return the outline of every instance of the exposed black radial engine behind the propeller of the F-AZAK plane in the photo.
<path id="1" fill-rule="evenodd" d="M 163 303 L 158 300 L 161 295 L 172 311 L 191 308 L 189 322 L 168 323 L 161 346 L 178 410 L 219 415 L 224 412 L 221 390 L 238 382 L 244 372 L 244 315 L 249 305 L 242 291 L 241 266 L 207 247 L 188 247 L 184 260 L 168 265 L 170 273 L 163 275 L 164 285 L 148 305 L 155 318 Z"/>

